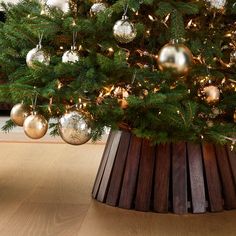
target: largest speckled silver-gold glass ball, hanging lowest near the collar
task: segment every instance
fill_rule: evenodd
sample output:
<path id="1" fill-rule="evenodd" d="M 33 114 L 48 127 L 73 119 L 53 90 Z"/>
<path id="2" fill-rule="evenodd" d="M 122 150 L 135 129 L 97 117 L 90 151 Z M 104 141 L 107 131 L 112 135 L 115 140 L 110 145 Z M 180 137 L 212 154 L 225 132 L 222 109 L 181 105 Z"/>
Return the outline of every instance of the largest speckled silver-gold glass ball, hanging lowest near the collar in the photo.
<path id="1" fill-rule="evenodd" d="M 81 145 L 91 138 L 91 129 L 88 122 L 78 111 L 69 111 L 59 120 L 61 138 L 69 144 Z"/>

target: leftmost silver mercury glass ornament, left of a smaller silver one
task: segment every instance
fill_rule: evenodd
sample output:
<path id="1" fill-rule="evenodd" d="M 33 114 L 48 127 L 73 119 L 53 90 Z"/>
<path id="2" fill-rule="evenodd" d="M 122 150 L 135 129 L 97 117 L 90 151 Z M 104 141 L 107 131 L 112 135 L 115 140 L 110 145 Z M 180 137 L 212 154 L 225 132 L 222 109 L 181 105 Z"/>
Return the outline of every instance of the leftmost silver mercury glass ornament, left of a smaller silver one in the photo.
<path id="1" fill-rule="evenodd" d="M 35 62 L 40 62 L 47 66 L 50 63 L 50 56 L 42 50 L 42 47 L 39 45 L 31 49 L 26 56 L 26 64 L 28 67 L 35 68 Z"/>

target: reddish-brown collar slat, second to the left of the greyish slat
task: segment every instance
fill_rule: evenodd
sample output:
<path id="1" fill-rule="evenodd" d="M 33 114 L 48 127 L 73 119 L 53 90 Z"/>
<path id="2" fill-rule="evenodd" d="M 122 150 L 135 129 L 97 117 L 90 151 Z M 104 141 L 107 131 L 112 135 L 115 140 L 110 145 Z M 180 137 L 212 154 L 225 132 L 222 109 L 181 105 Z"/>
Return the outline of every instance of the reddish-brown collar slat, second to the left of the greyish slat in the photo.
<path id="1" fill-rule="evenodd" d="M 154 211 L 168 212 L 170 180 L 170 144 L 161 144 L 156 149 L 154 180 Z"/>

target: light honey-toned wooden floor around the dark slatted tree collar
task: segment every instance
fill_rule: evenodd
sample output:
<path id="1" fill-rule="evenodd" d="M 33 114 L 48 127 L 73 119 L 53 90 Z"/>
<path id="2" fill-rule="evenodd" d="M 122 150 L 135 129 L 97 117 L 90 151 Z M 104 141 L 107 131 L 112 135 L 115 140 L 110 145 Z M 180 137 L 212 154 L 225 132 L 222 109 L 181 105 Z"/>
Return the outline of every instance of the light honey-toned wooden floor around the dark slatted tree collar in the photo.
<path id="1" fill-rule="evenodd" d="M 122 210 L 91 199 L 103 144 L 0 142 L 0 236 L 236 235 L 236 211 Z"/>

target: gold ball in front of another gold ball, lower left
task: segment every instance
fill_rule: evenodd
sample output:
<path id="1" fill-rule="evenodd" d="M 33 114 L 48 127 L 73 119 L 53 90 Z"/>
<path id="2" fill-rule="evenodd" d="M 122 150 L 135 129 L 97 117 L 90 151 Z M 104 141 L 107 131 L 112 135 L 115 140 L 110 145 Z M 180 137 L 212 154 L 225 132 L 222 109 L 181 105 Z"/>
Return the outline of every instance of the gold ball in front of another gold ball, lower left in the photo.
<path id="1" fill-rule="evenodd" d="M 44 116 L 33 112 L 25 119 L 23 128 L 29 138 L 40 139 L 47 133 L 48 121 Z"/>

